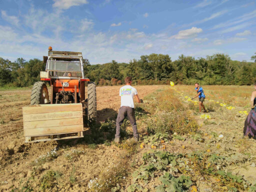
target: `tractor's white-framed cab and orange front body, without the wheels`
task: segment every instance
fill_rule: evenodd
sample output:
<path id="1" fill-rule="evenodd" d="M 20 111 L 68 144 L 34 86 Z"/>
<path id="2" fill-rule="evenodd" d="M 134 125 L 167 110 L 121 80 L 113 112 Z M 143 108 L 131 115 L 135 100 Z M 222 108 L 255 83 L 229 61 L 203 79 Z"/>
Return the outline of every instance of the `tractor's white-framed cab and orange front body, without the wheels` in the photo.
<path id="1" fill-rule="evenodd" d="M 45 71 L 40 79 L 50 81 L 52 88 L 51 104 L 77 103 L 84 100 L 83 58 L 81 52 L 56 51 L 48 49 Z"/>

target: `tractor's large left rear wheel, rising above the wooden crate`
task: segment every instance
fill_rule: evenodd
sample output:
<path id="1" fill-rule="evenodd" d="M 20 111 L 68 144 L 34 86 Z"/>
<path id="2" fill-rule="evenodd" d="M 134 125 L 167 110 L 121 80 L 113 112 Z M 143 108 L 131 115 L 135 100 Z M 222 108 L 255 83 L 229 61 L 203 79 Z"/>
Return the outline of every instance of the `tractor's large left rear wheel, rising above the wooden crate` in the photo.
<path id="1" fill-rule="evenodd" d="M 46 104 L 49 102 L 49 94 L 47 86 L 42 81 L 33 84 L 31 91 L 30 104 Z"/>

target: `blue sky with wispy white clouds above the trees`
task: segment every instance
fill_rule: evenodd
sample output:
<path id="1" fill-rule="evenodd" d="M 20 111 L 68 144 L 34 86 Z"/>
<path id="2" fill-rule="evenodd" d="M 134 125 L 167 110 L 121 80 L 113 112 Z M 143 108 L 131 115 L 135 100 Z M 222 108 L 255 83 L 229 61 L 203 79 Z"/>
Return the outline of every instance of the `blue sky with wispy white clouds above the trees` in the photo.
<path id="1" fill-rule="evenodd" d="M 250 61 L 255 0 L 0 0 L 0 57 L 81 51 L 91 64 L 150 53 Z"/>

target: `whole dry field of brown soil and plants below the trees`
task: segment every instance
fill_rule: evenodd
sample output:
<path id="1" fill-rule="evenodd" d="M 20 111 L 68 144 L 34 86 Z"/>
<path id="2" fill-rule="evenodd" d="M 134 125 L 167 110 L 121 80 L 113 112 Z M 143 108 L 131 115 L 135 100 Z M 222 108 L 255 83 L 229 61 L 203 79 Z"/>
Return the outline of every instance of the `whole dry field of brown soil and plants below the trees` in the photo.
<path id="1" fill-rule="evenodd" d="M 0 191 L 256 191 L 256 141 L 242 136 L 251 86 L 203 86 L 207 113 L 193 86 L 135 86 L 141 141 L 124 121 L 116 144 L 119 87 L 97 87 L 84 138 L 35 143 L 22 131 L 30 90 L 0 91 Z"/>

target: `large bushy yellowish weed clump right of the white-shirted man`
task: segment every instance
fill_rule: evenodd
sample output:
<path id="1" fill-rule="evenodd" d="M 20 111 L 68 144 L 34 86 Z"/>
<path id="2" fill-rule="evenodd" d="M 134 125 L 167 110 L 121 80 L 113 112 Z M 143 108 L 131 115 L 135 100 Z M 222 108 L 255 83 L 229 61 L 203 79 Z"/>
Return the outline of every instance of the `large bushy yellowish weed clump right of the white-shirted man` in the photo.
<path id="1" fill-rule="evenodd" d="M 185 109 L 181 99 L 175 96 L 173 89 L 158 92 L 150 104 L 151 107 L 155 106 L 156 110 L 146 121 L 149 134 L 176 132 L 184 135 L 198 130 L 195 119 Z"/>

